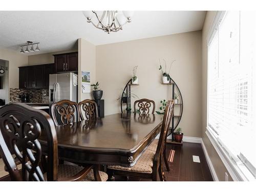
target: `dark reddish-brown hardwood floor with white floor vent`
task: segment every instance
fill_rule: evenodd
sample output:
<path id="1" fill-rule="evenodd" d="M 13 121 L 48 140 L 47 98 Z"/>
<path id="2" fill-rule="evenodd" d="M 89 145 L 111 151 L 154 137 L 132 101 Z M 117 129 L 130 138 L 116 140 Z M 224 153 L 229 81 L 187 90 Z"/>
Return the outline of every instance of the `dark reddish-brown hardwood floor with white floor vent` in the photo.
<path id="1" fill-rule="evenodd" d="M 193 161 L 198 156 L 200 163 Z M 167 181 L 212 181 L 203 148 L 200 143 L 187 143 L 183 145 L 167 144 L 167 158 L 170 171 L 164 165 L 164 175 Z M 126 177 L 115 175 L 116 181 L 126 181 Z M 140 178 L 129 178 L 129 181 L 151 181 Z"/>

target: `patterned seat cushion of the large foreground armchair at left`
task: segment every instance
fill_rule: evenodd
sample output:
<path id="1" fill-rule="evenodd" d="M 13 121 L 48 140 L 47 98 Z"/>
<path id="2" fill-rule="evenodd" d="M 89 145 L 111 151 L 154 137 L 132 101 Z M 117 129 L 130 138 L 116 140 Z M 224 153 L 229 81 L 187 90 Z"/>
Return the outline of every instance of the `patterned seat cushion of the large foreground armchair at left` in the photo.
<path id="1" fill-rule="evenodd" d="M 80 172 L 82 169 L 83 169 L 82 166 L 60 164 L 58 166 L 58 178 L 68 178 L 68 177 L 74 176 L 75 174 Z M 100 175 L 101 181 L 108 180 L 108 175 L 106 173 L 99 171 L 99 175 Z M 44 174 L 44 177 L 47 180 L 47 173 Z M 84 178 L 82 181 L 95 181 L 93 169 L 90 170 L 89 174 L 87 174 L 86 178 Z"/>

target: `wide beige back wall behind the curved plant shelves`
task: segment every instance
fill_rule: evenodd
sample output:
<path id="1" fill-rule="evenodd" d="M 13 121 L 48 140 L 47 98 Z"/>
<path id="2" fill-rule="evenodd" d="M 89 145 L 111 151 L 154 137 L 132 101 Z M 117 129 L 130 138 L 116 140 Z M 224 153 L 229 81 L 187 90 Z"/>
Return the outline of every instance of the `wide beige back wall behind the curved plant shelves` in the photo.
<path id="1" fill-rule="evenodd" d="M 116 99 L 138 66 L 139 86 L 133 93 L 156 102 L 170 99 L 170 86 L 161 84 L 158 59 L 176 59 L 170 76 L 178 84 L 184 102 L 180 127 L 185 136 L 201 137 L 201 31 L 146 38 L 96 47 L 96 81 L 105 100 L 105 115 L 120 113 Z M 135 99 L 132 98 L 132 103 Z M 133 111 L 133 106 L 132 106 Z"/>

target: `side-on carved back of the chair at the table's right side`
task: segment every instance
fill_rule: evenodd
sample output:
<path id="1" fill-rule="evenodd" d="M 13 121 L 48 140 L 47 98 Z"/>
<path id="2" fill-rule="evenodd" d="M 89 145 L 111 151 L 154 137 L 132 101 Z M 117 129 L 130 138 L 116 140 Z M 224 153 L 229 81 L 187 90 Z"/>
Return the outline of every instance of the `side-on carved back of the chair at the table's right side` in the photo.
<path id="1" fill-rule="evenodd" d="M 168 134 L 168 129 L 170 125 L 170 121 L 172 120 L 174 115 L 174 100 L 169 100 L 166 104 L 166 108 L 164 111 L 164 117 L 162 122 L 162 128 L 160 132 L 160 137 L 157 145 L 157 151 L 153 162 L 153 169 L 157 170 L 158 166 L 162 160 L 162 155 L 164 153 L 165 142 Z"/>

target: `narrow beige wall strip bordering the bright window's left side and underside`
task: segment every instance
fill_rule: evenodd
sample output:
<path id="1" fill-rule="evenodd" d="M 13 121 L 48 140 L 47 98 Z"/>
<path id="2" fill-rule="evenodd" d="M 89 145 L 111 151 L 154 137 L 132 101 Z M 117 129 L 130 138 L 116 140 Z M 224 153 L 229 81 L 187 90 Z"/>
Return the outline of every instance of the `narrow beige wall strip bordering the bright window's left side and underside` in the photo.
<path id="1" fill-rule="evenodd" d="M 207 12 L 202 32 L 202 139 L 212 165 L 214 165 L 218 179 L 220 181 L 225 181 L 225 172 L 227 172 L 227 169 L 205 134 L 207 126 L 207 35 L 215 14 L 216 11 Z M 228 178 L 230 181 L 232 180 L 230 175 Z"/>

